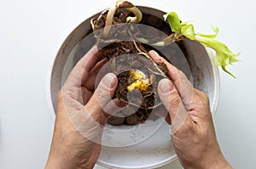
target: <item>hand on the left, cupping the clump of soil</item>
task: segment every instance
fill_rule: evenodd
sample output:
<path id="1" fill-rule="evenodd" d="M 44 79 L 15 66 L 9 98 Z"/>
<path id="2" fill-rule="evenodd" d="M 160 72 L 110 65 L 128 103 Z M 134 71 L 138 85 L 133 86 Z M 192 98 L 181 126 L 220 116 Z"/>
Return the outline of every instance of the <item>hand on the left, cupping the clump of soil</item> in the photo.
<path id="1" fill-rule="evenodd" d="M 94 92 L 97 73 L 107 62 L 98 62 L 100 56 L 96 46 L 91 48 L 57 95 L 55 130 L 46 168 L 92 168 L 96 164 L 108 114 L 123 104 L 110 101 L 117 86 L 113 74 L 104 76 Z"/>

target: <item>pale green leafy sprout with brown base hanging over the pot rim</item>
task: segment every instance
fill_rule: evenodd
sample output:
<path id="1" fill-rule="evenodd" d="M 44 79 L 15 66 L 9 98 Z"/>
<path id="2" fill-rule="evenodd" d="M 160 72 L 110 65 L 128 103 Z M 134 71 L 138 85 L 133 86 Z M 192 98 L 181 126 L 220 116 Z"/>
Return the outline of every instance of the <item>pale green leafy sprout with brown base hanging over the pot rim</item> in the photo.
<path id="1" fill-rule="evenodd" d="M 223 42 L 218 42 L 214 38 L 218 35 L 218 27 L 212 25 L 212 30 L 215 32 L 212 35 L 205 35 L 199 32 L 195 32 L 194 25 L 189 21 L 181 22 L 176 13 L 171 12 L 164 15 L 165 20 L 169 22 L 171 29 L 174 33 L 164 39 L 165 45 L 172 42 L 182 41 L 185 37 L 190 40 L 201 42 L 201 44 L 207 48 L 212 48 L 216 53 L 216 64 L 221 66 L 222 69 L 230 76 L 236 78 L 229 70 L 226 70 L 227 65 L 239 61 L 236 57 L 240 54 L 234 54 L 231 52 Z"/>

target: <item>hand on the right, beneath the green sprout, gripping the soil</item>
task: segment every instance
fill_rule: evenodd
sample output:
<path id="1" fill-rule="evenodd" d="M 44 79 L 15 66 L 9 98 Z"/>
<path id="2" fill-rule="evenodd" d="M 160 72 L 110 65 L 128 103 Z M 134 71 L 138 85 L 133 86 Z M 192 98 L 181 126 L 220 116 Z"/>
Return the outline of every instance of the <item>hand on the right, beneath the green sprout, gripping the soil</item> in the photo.
<path id="1" fill-rule="evenodd" d="M 224 159 L 215 135 L 206 93 L 195 89 L 182 71 L 150 51 L 156 63 L 165 63 L 169 79 L 159 82 L 158 91 L 172 123 L 172 144 L 184 168 L 232 168 Z M 171 120 L 171 121 L 170 121 Z"/>

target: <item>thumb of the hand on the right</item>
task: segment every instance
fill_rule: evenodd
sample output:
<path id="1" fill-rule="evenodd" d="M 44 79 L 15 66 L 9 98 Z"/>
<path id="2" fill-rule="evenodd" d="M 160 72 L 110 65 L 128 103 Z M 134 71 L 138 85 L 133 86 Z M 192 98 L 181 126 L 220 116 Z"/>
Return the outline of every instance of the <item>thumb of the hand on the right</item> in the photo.
<path id="1" fill-rule="evenodd" d="M 158 93 L 171 117 L 172 133 L 175 133 L 186 121 L 188 111 L 185 109 L 176 87 L 170 80 L 162 79 L 159 82 Z"/>

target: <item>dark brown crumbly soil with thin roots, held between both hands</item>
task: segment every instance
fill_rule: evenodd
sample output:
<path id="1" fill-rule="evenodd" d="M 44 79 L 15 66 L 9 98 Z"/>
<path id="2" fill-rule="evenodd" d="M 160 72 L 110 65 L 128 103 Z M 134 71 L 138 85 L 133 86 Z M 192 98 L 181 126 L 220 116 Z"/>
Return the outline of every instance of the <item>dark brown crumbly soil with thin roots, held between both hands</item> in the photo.
<path id="1" fill-rule="evenodd" d="M 113 125 L 119 125 L 122 121 L 126 121 L 126 124 L 134 125 L 137 124 L 135 122 L 136 115 L 137 121 L 143 123 L 148 119 L 153 108 L 160 104 L 160 98 L 156 90 L 160 79 L 164 78 L 167 74 L 167 67 L 164 63 L 160 63 L 156 67 L 151 59 L 142 54 L 148 54 L 148 51 L 153 49 L 148 47 L 148 45 L 142 42 L 122 41 L 122 39 L 125 39 L 125 36 L 131 36 L 131 32 L 126 27 L 119 25 L 125 23 L 127 16 L 133 15 L 129 11 L 118 10 L 114 15 L 113 28 L 109 33 L 111 38 L 102 37 L 102 31 L 97 30 L 104 28 L 107 14 L 108 11 L 103 12 L 99 18 L 93 20 L 93 25 L 96 43 L 98 47 L 102 48 L 102 57 L 107 58 L 111 62 L 112 71 L 118 77 L 118 87 L 113 98 L 118 98 L 127 104 L 139 107 L 134 115 L 126 117 L 125 120 L 119 118 L 115 122 L 115 119 L 111 118 L 108 122 Z M 167 35 L 171 33 L 168 26 L 163 26 L 166 25 L 164 21 L 152 15 L 144 14 L 141 24 L 152 25 L 157 29 L 162 29 Z M 115 25 L 117 26 L 114 27 Z M 150 36 L 150 32 L 148 32 L 148 36 Z M 155 38 L 159 37 L 156 36 Z M 154 41 L 155 38 L 152 37 L 150 39 Z M 132 82 L 135 82 L 130 76 L 130 70 L 140 70 L 148 79 L 154 79 L 148 86 L 147 91 L 133 90 L 128 92 L 127 87 Z"/>

